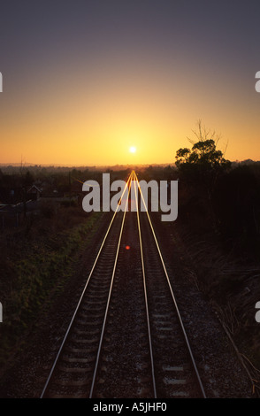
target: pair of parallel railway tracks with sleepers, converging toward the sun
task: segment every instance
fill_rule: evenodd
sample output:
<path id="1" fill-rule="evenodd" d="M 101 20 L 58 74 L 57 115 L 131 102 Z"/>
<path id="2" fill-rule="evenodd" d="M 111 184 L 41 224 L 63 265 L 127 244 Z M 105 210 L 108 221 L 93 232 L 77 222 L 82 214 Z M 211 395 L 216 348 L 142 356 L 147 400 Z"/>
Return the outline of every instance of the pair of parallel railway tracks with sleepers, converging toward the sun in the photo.
<path id="1" fill-rule="evenodd" d="M 149 212 L 120 206 L 41 397 L 205 397 Z"/>

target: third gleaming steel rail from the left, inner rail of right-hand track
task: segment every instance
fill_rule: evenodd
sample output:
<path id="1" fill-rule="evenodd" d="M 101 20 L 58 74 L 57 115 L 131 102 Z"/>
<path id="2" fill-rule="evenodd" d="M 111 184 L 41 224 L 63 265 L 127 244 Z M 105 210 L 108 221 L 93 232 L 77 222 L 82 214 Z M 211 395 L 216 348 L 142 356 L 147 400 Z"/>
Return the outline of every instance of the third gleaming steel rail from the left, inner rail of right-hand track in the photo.
<path id="1" fill-rule="evenodd" d="M 151 374 L 152 374 L 152 381 L 153 381 L 154 398 L 157 398 L 157 385 L 156 385 L 155 366 L 154 366 L 153 349 L 152 349 L 150 324 L 149 324 L 149 304 L 148 304 L 147 289 L 146 289 L 146 275 L 145 275 L 144 259 L 143 259 L 143 249 L 142 249 L 142 240 L 141 240 L 141 226 L 140 226 L 140 218 L 139 218 L 136 181 L 134 181 L 134 195 L 135 195 L 135 202 L 136 202 L 136 215 L 137 215 L 137 225 L 138 225 L 140 253 L 141 253 L 141 271 L 142 271 L 145 309 L 146 309 L 147 327 L 148 327 L 148 335 L 149 335 L 149 355 L 150 355 L 150 362 L 151 362 Z"/>

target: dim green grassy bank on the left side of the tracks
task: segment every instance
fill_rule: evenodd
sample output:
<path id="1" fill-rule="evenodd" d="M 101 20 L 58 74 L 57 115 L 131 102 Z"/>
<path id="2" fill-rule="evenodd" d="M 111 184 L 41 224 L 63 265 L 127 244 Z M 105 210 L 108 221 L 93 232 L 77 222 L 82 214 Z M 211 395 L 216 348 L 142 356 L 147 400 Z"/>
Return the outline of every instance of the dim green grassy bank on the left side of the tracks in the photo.
<path id="1" fill-rule="evenodd" d="M 0 366 L 19 348 L 23 335 L 34 325 L 50 294 L 58 294 L 72 275 L 82 244 L 89 243 L 100 219 L 100 212 L 61 227 L 61 212 L 56 218 L 42 219 L 25 237 L 23 228 L 2 236 L 4 256 L 0 260 L 3 323 L 0 324 Z M 71 211 L 72 213 L 73 211 Z M 63 218 L 65 220 L 65 217 Z M 55 224 L 55 226 L 54 226 Z M 42 229 L 45 233 L 42 233 Z"/>

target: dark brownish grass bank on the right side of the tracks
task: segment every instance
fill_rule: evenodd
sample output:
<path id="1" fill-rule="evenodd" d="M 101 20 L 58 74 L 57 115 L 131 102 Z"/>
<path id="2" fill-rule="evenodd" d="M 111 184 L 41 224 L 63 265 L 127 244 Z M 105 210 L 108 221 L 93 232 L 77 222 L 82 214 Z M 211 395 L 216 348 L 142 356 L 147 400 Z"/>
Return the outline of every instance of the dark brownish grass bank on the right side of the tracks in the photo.
<path id="1" fill-rule="evenodd" d="M 250 372 L 257 372 L 260 380 L 256 370 L 260 369 L 259 324 L 255 320 L 255 304 L 260 300 L 259 263 L 224 253 L 205 235 L 184 232 L 180 239 L 198 287 L 218 312 Z"/>

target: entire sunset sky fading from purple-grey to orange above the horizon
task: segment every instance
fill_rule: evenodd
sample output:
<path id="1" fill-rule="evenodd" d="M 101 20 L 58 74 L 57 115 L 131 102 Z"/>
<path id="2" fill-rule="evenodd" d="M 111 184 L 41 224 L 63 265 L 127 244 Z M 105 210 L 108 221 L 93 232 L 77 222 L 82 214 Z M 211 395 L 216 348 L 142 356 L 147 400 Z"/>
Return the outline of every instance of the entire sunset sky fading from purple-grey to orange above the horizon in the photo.
<path id="1" fill-rule="evenodd" d="M 229 160 L 260 160 L 259 16 L 255 0 L 2 2 L 0 163 L 173 164 L 198 120 Z"/>

